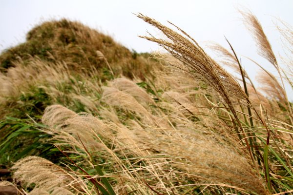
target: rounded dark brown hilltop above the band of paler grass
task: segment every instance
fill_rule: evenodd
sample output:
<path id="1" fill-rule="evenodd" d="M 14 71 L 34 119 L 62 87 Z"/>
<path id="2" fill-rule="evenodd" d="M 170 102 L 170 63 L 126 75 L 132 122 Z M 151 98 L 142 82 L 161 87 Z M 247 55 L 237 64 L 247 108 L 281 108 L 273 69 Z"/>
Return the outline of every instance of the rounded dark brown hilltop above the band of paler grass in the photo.
<path id="1" fill-rule="evenodd" d="M 154 60 L 148 54 L 131 52 L 110 36 L 79 22 L 66 19 L 43 22 L 26 35 L 26 41 L 0 55 L 0 70 L 6 72 L 21 59 L 27 63 L 38 57 L 49 62 L 63 61 L 77 72 L 93 66 L 115 75 L 144 78 Z M 101 75 L 102 76 L 102 75 Z"/>

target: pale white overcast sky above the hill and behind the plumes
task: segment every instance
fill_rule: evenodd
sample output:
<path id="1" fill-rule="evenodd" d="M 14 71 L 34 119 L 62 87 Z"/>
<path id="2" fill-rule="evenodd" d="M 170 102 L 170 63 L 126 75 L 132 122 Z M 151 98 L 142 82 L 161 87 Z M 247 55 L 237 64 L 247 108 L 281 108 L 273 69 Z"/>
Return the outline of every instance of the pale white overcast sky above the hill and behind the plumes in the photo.
<path id="1" fill-rule="evenodd" d="M 256 15 L 275 54 L 284 56 L 275 23 L 281 19 L 293 25 L 293 0 L 0 0 L 0 52 L 24 42 L 25 34 L 42 21 L 60 18 L 80 21 L 137 52 L 155 51 L 159 48 L 156 44 L 137 37 L 146 35 L 146 30 L 160 36 L 132 14 L 140 12 L 163 24 L 171 21 L 203 46 L 205 41 L 215 41 L 228 48 L 225 35 L 238 55 L 249 56 L 275 72 L 257 55 L 237 10 L 241 8 Z M 257 77 L 257 68 L 243 56 L 248 74 Z M 292 101 L 293 92 L 286 88 Z"/>

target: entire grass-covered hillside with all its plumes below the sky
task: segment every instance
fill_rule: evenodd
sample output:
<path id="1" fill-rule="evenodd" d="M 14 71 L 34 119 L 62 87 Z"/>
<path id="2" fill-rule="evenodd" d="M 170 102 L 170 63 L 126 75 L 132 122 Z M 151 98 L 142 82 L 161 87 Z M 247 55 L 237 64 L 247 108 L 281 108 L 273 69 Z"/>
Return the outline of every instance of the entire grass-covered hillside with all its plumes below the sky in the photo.
<path id="1" fill-rule="evenodd" d="M 260 68 L 262 90 L 231 45 L 212 46 L 222 57 L 217 62 L 183 30 L 141 14 L 167 37 L 142 38 L 168 53 L 153 59 L 131 52 L 67 20 L 32 29 L 25 43 L 0 55 L 0 164 L 15 179 L 0 182 L 0 189 L 291 193 L 293 115 L 283 82 L 292 84 L 292 69 L 283 71 L 257 19 L 243 15 L 260 53 L 282 78 Z M 280 32 L 291 40 L 288 26 Z M 225 71 L 227 65 L 239 78 Z"/>

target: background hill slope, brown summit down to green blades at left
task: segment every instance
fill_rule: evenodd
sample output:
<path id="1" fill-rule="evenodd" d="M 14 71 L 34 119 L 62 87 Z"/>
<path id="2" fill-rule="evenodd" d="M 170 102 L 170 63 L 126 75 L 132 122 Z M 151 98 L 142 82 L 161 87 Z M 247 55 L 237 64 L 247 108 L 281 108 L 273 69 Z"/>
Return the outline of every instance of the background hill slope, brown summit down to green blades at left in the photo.
<path id="1" fill-rule="evenodd" d="M 78 22 L 60 20 L 28 32 L 26 42 L 0 55 L 0 66 L 0 147 L 5 145 L 0 164 L 10 166 L 26 155 L 56 157 L 52 144 L 47 150 L 42 143 L 47 136 L 32 134 L 38 128 L 32 122 L 41 121 L 47 106 L 61 104 L 75 112 L 96 113 L 98 108 L 89 110 L 87 104 L 97 104 L 101 83 L 121 75 L 152 78 L 150 72 L 159 62 Z"/>

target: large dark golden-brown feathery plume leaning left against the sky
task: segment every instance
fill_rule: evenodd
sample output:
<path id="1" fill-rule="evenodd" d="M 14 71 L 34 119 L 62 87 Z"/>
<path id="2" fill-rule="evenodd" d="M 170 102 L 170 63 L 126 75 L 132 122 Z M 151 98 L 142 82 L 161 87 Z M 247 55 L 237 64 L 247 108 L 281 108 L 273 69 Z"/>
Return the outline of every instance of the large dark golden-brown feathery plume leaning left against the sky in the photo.
<path id="1" fill-rule="evenodd" d="M 141 38 L 158 43 L 158 45 L 162 46 L 172 56 L 182 62 L 180 66 L 176 64 L 172 65 L 186 72 L 195 80 L 201 80 L 205 82 L 209 87 L 214 89 L 224 100 L 224 102 L 230 109 L 233 117 L 235 118 L 236 123 L 241 130 L 241 133 L 243 134 L 247 151 L 249 152 L 251 160 L 257 171 L 258 165 L 256 164 L 255 159 L 252 155 L 251 147 L 247 138 L 248 136 L 242 127 L 236 110 L 234 109 L 234 103 L 232 101 L 233 98 L 236 98 L 238 101 L 242 101 L 243 104 L 247 102 L 249 104 L 248 106 L 251 106 L 249 98 L 246 96 L 239 83 L 216 61 L 211 59 L 194 39 L 192 39 L 186 32 L 184 32 L 176 25 L 169 22 L 171 25 L 176 27 L 177 30 L 180 31 L 185 37 L 175 32 L 174 30 L 162 25 L 160 22 L 144 16 L 143 14 L 138 14 L 137 17 L 161 30 L 162 33 L 164 33 L 164 35 L 168 38 L 168 40 L 157 39 L 151 34 L 149 34 L 149 37 L 140 36 Z"/>

